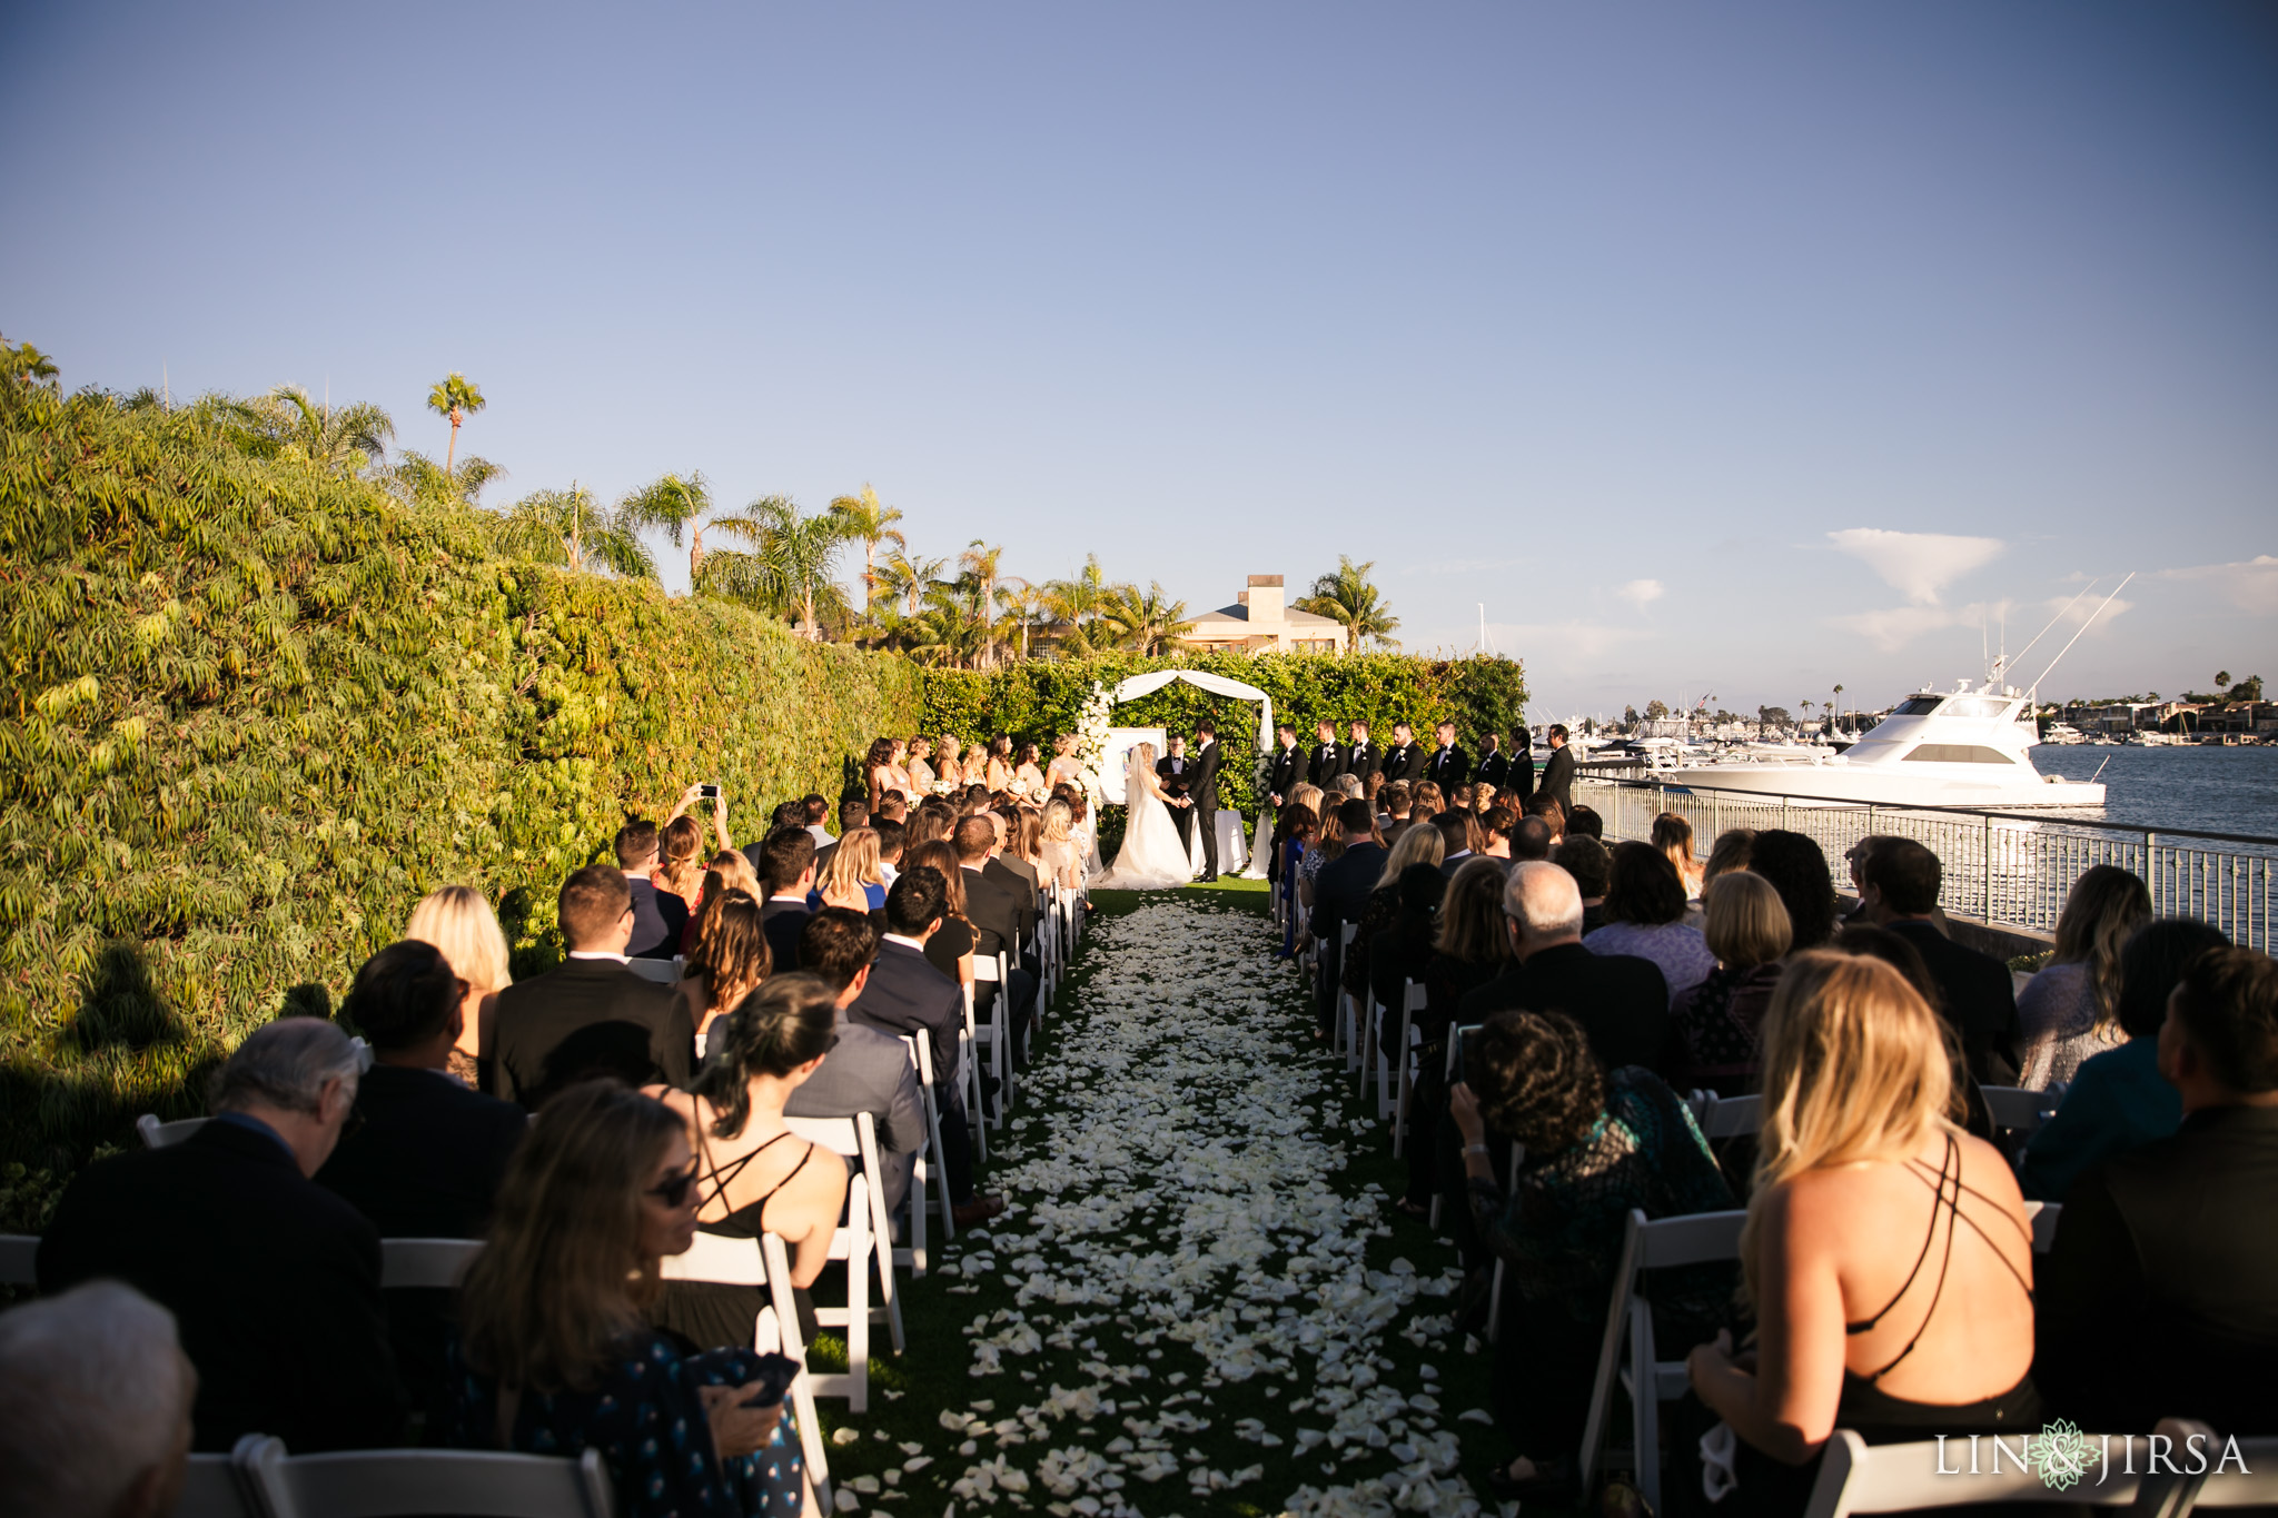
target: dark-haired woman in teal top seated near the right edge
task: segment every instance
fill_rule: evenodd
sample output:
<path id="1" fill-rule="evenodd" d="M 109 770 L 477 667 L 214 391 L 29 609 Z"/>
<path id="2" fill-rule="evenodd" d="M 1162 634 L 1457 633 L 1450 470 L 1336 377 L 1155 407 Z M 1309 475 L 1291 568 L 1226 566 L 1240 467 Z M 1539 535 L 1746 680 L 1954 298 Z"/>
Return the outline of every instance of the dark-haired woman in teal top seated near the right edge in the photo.
<path id="1" fill-rule="evenodd" d="M 2182 1124 L 2182 1097 L 2160 1076 L 2160 1024 L 2182 970 L 2230 940 L 2196 917 L 2160 917 L 2121 949 L 2119 1049 L 2087 1061 L 2064 1102 L 2025 1140 L 2018 1181 L 2027 1197 L 2064 1202 L 2080 1172 L 2109 1154 L 2141 1149 Z"/>

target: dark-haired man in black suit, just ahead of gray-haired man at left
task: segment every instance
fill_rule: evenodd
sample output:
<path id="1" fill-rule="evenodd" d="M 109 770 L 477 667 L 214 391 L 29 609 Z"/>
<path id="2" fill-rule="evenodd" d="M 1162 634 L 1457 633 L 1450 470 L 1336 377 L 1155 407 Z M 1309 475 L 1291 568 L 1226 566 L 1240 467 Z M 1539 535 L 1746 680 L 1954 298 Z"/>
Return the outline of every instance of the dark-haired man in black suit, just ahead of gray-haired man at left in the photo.
<path id="1" fill-rule="evenodd" d="M 387 944 L 355 972 L 342 1015 L 371 1045 L 355 1124 L 317 1172 L 380 1238 L 481 1238 L 506 1163 L 531 1131 L 513 1102 L 444 1070 L 465 983 L 433 944 Z M 396 1370 L 417 1406 L 444 1391 L 449 1293 L 387 1293 Z"/>

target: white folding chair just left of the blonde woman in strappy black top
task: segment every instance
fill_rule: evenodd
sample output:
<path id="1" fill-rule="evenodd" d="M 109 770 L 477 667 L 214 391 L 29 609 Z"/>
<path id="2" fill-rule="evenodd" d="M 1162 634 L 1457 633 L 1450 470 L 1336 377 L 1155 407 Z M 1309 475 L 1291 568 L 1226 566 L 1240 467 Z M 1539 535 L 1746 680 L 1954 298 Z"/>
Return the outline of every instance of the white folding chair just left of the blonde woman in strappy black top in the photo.
<path id="1" fill-rule="evenodd" d="M 1613 1306 L 1606 1313 L 1606 1336 L 1597 1352 L 1597 1381 L 1590 1388 L 1590 1416 L 1581 1434 L 1581 1479 L 1588 1491 L 1597 1475 L 1613 1411 L 1613 1388 L 1629 1393 L 1629 1443 L 1638 1472 L 1638 1495 L 1661 1511 L 1661 1404 L 1686 1395 L 1686 1363 L 1654 1354 L 1654 1304 L 1638 1290 L 1645 1270 L 1697 1265 L 1702 1261 L 1740 1259 L 1740 1224 L 1747 1211 L 1695 1213 L 1690 1218 L 1647 1220 L 1629 1211 L 1622 1231 L 1622 1259 L 1613 1272 Z M 1629 1363 L 1622 1363 L 1622 1345 Z"/>

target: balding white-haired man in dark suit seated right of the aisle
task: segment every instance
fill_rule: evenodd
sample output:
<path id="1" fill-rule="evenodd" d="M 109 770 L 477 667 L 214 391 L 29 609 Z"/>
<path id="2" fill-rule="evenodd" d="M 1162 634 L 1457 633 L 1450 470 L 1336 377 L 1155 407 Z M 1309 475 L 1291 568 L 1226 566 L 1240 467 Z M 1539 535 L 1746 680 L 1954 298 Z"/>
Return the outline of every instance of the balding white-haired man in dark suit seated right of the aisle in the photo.
<path id="1" fill-rule="evenodd" d="M 1606 1070 L 1661 1070 L 1670 1038 L 1670 985 L 1661 965 L 1631 954 L 1590 954 L 1581 942 L 1581 888 L 1549 860 L 1522 860 L 1503 885 L 1503 915 L 1519 963 L 1458 1006 L 1458 1022 L 1494 1013 L 1565 1013 L 1590 1036 Z"/>

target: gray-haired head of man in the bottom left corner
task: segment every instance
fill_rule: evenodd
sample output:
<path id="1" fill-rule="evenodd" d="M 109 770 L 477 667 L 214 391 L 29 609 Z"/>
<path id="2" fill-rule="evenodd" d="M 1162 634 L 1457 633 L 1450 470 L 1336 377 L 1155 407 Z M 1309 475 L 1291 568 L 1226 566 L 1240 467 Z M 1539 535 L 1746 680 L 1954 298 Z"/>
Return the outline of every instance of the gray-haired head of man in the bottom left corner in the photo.
<path id="1" fill-rule="evenodd" d="M 130 1286 L 0 1313 L 0 1513 L 164 1518 L 196 1393 L 173 1313 Z"/>

